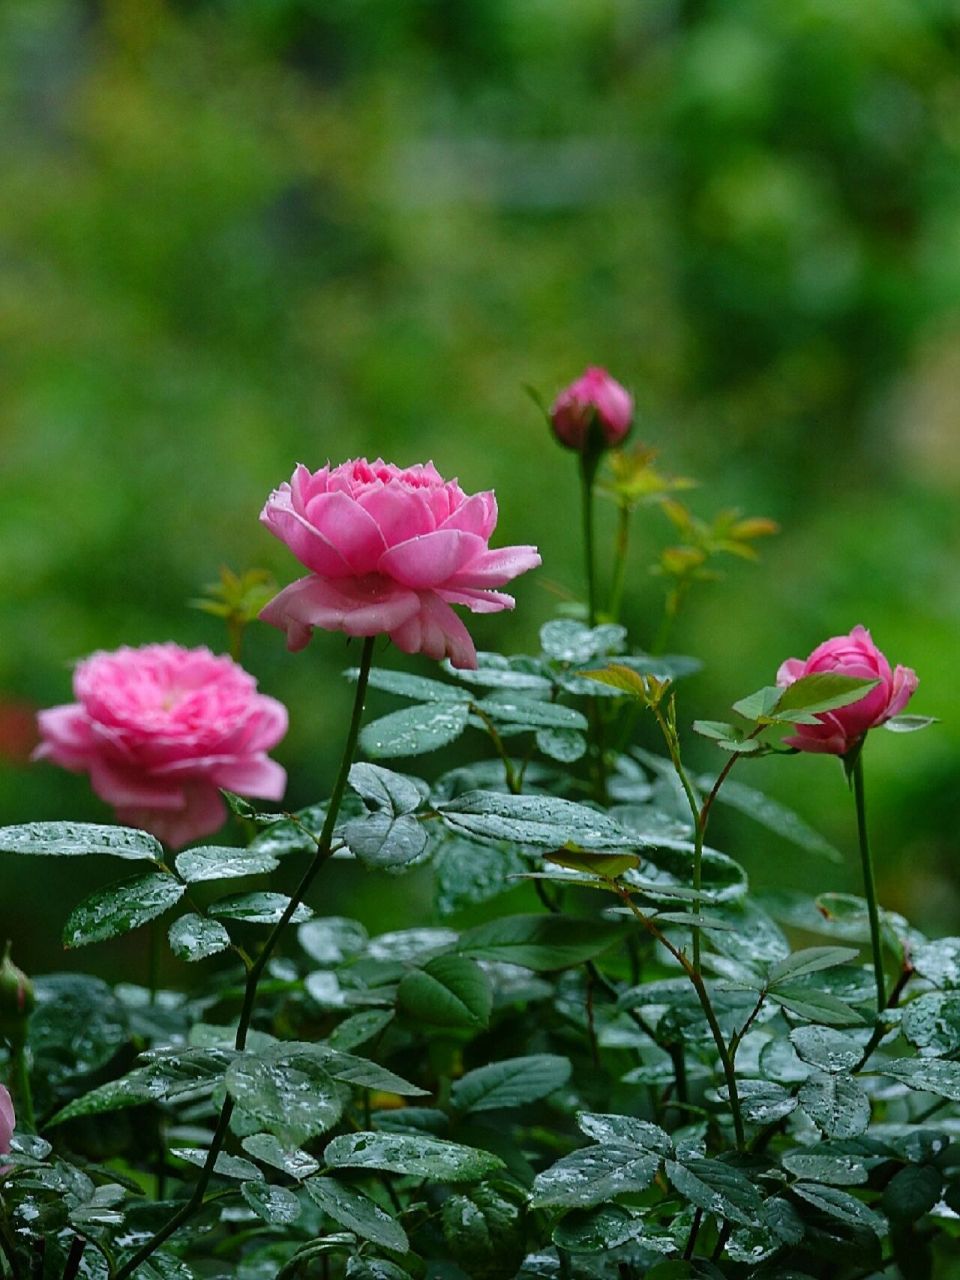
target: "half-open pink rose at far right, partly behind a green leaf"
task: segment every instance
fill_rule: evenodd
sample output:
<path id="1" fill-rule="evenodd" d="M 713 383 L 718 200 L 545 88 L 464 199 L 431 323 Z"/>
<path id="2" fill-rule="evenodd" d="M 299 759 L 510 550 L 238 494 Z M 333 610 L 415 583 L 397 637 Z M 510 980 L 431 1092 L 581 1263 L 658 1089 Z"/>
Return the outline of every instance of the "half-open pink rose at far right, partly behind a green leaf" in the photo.
<path id="1" fill-rule="evenodd" d="M 833 712 L 820 712 L 817 724 L 797 724 L 786 739 L 800 751 L 846 755 L 869 728 L 876 728 L 906 707 L 916 689 L 916 675 L 909 667 L 890 669 L 890 663 L 870 640 L 865 627 L 856 626 L 849 636 L 833 636 L 813 650 L 806 662 L 787 658 L 777 672 L 777 684 L 786 689 L 801 676 L 831 671 L 860 680 L 878 680 L 863 698 Z"/>

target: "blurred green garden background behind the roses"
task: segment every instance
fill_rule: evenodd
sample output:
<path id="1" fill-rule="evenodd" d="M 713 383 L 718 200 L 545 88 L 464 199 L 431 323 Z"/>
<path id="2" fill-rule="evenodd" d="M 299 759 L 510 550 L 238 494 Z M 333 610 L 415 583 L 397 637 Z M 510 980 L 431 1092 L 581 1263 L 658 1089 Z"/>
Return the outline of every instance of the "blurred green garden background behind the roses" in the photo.
<path id="1" fill-rule="evenodd" d="M 707 481 L 694 509 L 783 526 L 681 618 L 672 645 L 707 663 L 684 718 L 870 626 L 943 721 L 870 741 L 881 896 L 960 932 L 959 54 L 957 0 L 8 0 L 3 820 L 106 818 L 83 778 L 23 763 L 31 707 L 69 700 L 96 648 L 223 649 L 187 602 L 223 563 L 298 576 L 256 518 L 297 461 L 433 458 L 495 488 L 497 540 L 544 568 L 474 634 L 535 649 L 581 590 L 577 485 L 522 387 L 602 364 L 664 470 Z M 669 538 L 641 513 L 641 644 Z M 244 658 L 293 708 L 275 754 L 307 803 L 353 657 L 255 626 Z M 836 763 L 741 769 L 850 863 L 728 819 L 716 842 L 760 884 L 855 890 Z M 425 909 L 348 872 L 340 910 Z M 111 874 L 4 861 L 0 938 L 28 966 L 109 969 L 120 943 L 64 960 L 56 937 Z"/>

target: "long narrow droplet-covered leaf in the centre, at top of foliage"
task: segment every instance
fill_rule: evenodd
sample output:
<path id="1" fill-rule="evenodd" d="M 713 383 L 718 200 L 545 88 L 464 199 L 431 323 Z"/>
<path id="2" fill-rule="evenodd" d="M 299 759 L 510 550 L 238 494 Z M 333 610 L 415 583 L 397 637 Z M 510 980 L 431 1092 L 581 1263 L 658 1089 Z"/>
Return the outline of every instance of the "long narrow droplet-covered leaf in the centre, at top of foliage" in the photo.
<path id="1" fill-rule="evenodd" d="M 438 812 L 452 831 L 484 840 L 512 840 L 548 849 L 568 841 L 582 849 L 617 850 L 646 844 L 596 809 L 557 796 L 467 791 L 438 805 Z"/>

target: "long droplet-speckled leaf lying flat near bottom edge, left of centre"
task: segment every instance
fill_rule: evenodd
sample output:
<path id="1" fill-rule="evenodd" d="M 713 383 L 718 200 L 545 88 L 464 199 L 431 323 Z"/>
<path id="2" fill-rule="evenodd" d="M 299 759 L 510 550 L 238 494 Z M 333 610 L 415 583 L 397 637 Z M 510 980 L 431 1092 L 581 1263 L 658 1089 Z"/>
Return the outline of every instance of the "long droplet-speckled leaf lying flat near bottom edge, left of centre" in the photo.
<path id="1" fill-rule="evenodd" d="M 503 1169 L 503 1161 L 489 1151 L 426 1134 L 342 1134 L 328 1144 L 324 1160 L 333 1169 L 381 1169 L 439 1183 L 479 1181 Z"/>

